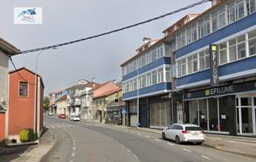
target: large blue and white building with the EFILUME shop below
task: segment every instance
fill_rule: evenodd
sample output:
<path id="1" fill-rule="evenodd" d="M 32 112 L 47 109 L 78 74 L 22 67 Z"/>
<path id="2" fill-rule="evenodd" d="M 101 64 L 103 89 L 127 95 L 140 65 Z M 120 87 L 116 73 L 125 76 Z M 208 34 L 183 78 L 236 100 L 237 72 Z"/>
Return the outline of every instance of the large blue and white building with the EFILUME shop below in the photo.
<path id="1" fill-rule="evenodd" d="M 181 92 L 183 122 L 256 135 L 255 19 L 255 0 L 226 0 L 165 36 L 176 39 L 173 90 Z"/>

